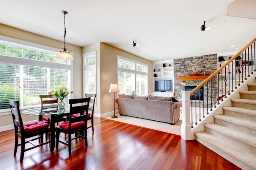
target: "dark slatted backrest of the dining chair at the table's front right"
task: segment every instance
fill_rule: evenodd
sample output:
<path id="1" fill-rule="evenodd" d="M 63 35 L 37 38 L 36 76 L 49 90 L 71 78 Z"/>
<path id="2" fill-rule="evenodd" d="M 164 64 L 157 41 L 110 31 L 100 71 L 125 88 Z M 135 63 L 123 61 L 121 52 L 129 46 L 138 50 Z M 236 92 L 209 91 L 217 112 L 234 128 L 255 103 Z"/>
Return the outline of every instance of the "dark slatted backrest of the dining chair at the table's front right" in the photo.
<path id="1" fill-rule="evenodd" d="M 84 121 L 84 123 L 87 124 L 90 97 L 82 98 L 82 99 L 70 99 L 69 103 L 70 103 L 69 130 L 71 130 L 71 123 Z M 74 104 L 81 104 L 81 105 L 73 106 Z M 72 117 L 72 115 L 76 113 L 80 113 L 81 116 Z"/>

